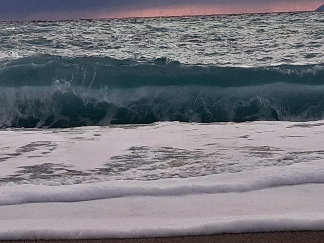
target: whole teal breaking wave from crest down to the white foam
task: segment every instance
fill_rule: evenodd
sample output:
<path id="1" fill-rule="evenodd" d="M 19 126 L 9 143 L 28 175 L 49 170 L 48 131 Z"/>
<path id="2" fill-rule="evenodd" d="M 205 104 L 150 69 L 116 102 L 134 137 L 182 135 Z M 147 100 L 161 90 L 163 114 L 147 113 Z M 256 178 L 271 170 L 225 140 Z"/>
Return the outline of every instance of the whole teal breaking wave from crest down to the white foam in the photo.
<path id="1" fill-rule="evenodd" d="M 324 64 L 225 67 L 168 58 L 0 62 L 0 127 L 323 119 Z"/>

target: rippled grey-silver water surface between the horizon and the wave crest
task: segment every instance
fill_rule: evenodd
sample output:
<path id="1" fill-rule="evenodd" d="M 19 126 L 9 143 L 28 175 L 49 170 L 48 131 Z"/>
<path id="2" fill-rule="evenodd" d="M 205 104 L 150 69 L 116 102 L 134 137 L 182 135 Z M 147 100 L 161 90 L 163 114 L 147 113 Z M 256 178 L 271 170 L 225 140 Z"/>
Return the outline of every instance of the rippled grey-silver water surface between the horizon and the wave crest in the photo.
<path id="1" fill-rule="evenodd" d="M 127 18 L 0 24 L 0 58 L 34 53 L 168 57 L 214 65 L 324 60 L 323 12 Z"/>

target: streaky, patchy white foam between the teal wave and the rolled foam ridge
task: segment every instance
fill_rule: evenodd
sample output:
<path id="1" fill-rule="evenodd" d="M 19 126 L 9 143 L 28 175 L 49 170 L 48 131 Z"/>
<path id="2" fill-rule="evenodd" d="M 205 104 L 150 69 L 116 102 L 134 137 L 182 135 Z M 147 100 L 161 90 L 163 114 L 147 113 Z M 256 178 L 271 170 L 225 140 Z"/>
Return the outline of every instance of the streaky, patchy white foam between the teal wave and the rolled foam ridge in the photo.
<path id="1" fill-rule="evenodd" d="M 312 163 L 324 157 L 322 123 L 162 122 L 148 126 L 2 130 L 6 143 L 0 144 L 4 147 L 0 152 L 0 178 L 20 174 L 16 176 L 19 183 L 40 184 L 55 179 L 62 185 L 186 178 Z M 46 173 L 44 163 L 50 163 L 48 167 L 55 172 Z M 28 169 L 35 165 L 40 165 L 38 173 L 45 171 L 36 178 L 49 179 L 30 179 Z"/>

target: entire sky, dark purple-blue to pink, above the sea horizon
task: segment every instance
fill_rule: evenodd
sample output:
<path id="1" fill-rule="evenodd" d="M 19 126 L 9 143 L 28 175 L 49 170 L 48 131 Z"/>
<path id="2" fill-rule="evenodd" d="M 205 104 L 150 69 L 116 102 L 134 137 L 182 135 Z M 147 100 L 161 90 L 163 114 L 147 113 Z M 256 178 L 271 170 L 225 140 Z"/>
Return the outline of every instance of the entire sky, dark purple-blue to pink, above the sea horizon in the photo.
<path id="1" fill-rule="evenodd" d="M 324 0 L 0 0 L 0 21 L 311 11 Z"/>

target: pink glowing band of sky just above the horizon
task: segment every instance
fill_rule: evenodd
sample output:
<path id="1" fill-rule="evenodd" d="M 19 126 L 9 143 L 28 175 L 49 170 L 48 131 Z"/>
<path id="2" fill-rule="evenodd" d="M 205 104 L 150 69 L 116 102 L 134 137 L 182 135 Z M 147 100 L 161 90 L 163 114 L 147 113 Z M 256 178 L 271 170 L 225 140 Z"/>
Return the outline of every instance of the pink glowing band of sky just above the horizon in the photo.
<path id="1" fill-rule="evenodd" d="M 164 8 L 148 8 L 142 10 L 127 10 L 114 13 L 101 12 L 96 14 L 98 18 L 118 17 L 152 17 L 152 16 L 178 16 L 178 15 L 211 15 L 211 14 L 237 14 L 237 13 L 263 13 L 263 12 L 288 12 L 288 11 L 312 11 L 323 4 L 323 0 L 294 0 L 281 4 L 249 4 L 228 5 L 182 5 Z"/>

